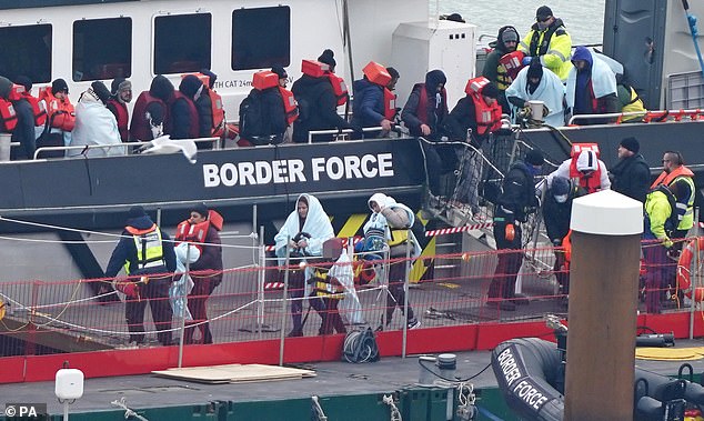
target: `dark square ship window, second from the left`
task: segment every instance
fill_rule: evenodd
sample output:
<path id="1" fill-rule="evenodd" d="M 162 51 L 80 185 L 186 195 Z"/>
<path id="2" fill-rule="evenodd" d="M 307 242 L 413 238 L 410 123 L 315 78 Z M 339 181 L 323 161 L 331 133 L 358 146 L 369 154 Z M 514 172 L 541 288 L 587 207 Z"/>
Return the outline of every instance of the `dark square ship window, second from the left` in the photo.
<path id="1" fill-rule="evenodd" d="M 132 19 L 73 22 L 73 81 L 132 74 Z"/>

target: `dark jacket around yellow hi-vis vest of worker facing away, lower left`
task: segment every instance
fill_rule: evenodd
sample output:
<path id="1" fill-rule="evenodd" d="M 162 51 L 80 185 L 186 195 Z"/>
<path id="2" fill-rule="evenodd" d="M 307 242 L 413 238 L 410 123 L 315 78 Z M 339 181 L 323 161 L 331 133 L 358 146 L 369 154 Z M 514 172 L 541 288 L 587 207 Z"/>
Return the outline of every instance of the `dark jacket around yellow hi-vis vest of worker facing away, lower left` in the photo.
<path id="1" fill-rule="evenodd" d="M 147 230 L 154 224 L 154 222 L 148 215 L 133 218 L 128 220 L 127 224 L 129 227 L 137 228 L 138 230 Z M 161 230 L 160 228 L 157 228 Z M 147 270 L 139 271 L 138 261 L 137 261 L 137 247 L 134 245 L 134 239 L 132 234 L 130 234 L 127 230 L 122 231 L 122 238 L 115 245 L 114 250 L 112 250 L 112 255 L 110 255 L 110 261 L 108 262 L 108 269 L 105 269 L 105 277 L 114 278 L 120 269 L 124 265 L 125 262 L 130 264 L 130 274 L 140 274 L 140 273 L 163 273 L 163 272 L 173 272 L 175 271 L 175 252 L 173 251 L 173 242 L 169 238 L 164 231 L 161 231 L 161 247 L 163 250 L 163 260 L 165 262 L 165 267 L 154 267 L 149 268 Z"/>

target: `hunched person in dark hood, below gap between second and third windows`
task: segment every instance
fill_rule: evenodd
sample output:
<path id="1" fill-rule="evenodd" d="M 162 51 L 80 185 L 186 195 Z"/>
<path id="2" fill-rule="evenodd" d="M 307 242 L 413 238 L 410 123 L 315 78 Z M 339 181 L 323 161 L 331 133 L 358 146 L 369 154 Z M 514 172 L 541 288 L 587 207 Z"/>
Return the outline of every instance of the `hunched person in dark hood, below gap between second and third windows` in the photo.
<path id="1" fill-rule="evenodd" d="M 152 79 L 149 90 L 137 97 L 130 122 L 132 139 L 144 142 L 163 134 L 173 92 L 173 84 L 167 77 L 157 74 Z"/>

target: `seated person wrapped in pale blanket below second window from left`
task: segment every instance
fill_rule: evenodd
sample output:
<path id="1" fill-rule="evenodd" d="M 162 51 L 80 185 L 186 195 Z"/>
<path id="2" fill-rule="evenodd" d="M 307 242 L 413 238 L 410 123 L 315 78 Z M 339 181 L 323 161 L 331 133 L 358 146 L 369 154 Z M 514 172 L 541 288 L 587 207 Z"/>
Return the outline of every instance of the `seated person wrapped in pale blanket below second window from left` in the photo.
<path id="1" fill-rule="evenodd" d="M 76 127 L 71 139 L 72 147 L 77 146 L 111 146 L 122 144 L 118 121 L 105 103 L 110 99 L 110 91 L 101 81 L 94 81 L 90 88 L 81 93 L 76 106 Z M 91 148 L 89 150 L 72 149 L 69 156 L 110 157 L 124 154 L 124 148 Z"/>

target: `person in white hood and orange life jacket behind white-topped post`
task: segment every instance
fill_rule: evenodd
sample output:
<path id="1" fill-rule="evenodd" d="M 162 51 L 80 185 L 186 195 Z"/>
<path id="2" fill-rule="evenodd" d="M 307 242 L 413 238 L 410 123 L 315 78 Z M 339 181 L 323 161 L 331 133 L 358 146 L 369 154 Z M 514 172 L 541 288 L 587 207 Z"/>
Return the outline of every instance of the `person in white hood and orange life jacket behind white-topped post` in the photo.
<path id="1" fill-rule="evenodd" d="M 574 180 L 587 193 L 611 189 L 606 164 L 592 150 L 583 150 L 564 160 L 547 176 L 547 187 L 552 186 L 553 178 L 557 176 Z"/>

